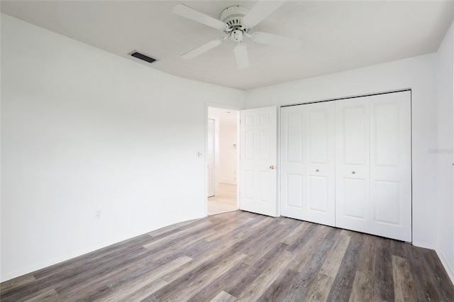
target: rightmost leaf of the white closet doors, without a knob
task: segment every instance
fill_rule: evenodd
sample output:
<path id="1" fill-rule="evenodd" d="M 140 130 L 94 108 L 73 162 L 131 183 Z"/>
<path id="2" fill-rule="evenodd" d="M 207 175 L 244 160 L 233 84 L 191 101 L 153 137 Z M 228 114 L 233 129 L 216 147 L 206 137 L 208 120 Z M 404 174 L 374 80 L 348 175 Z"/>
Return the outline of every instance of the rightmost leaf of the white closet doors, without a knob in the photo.
<path id="1" fill-rule="evenodd" d="M 411 94 L 370 97 L 371 233 L 411 242 Z"/>

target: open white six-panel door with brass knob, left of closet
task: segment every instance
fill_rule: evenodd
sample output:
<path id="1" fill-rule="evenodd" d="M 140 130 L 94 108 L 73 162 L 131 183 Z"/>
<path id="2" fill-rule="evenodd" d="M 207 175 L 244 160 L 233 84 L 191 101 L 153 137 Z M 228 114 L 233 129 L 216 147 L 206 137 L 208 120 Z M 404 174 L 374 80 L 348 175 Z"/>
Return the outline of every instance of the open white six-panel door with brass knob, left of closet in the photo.
<path id="1" fill-rule="evenodd" d="M 277 216 L 277 108 L 240 112 L 240 209 Z"/>

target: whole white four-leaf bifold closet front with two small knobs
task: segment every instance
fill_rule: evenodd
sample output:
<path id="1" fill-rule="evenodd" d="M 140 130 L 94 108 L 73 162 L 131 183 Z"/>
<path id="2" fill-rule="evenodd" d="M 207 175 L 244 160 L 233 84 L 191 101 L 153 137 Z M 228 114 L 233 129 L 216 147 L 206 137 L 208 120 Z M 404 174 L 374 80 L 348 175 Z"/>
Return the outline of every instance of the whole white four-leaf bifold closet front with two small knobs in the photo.
<path id="1" fill-rule="evenodd" d="M 281 108 L 281 214 L 411 242 L 411 92 Z"/>

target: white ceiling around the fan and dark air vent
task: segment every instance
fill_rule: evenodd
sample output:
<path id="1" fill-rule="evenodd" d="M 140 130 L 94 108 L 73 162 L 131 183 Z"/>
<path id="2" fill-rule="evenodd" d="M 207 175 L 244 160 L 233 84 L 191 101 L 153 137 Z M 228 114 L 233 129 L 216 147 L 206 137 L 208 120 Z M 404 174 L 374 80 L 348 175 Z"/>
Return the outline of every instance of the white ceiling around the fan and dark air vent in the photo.
<path id="1" fill-rule="evenodd" d="M 187 6 L 218 18 L 256 1 L 1 1 L 1 12 L 129 60 L 132 50 L 179 77 L 254 89 L 436 52 L 453 22 L 454 1 L 287 1 L 252 31 L 300 38 L 299 50 L 245 40 L 250 67 L 239 70 L 233 42 L 192 60 L 180 55 L 223 33 L 172 13 Z"/>

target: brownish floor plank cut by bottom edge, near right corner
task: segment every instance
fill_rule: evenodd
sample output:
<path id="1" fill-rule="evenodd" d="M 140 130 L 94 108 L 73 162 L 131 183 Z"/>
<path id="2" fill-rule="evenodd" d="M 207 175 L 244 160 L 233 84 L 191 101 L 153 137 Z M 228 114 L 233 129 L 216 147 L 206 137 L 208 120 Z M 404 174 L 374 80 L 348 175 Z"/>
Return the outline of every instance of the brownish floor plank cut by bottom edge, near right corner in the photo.
<path id="1" fill-rule="evenodd" d="M 394 279 L 394 298 L 396 301 L 416 301 L 413 276 L 406 259 L 392 256 L 392 276 Z"/>

